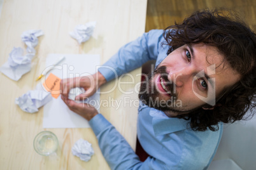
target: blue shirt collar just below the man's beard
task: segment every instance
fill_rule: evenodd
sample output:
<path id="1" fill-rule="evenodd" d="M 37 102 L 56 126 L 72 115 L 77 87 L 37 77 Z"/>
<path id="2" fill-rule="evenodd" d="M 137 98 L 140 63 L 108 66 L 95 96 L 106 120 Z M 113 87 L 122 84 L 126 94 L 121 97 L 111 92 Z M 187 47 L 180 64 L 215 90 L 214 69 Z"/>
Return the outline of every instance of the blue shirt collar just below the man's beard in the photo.
<path id="1" fill-rule="evenodd" d="M 150 115 L 153 117 L 152 124 L 155 136 L 174 133 L 190 128 L 188 124 L 189 121 L 179 119 L 177 117 L 167 117 L 164 112 L 155 108 L 150 109 Z"/>

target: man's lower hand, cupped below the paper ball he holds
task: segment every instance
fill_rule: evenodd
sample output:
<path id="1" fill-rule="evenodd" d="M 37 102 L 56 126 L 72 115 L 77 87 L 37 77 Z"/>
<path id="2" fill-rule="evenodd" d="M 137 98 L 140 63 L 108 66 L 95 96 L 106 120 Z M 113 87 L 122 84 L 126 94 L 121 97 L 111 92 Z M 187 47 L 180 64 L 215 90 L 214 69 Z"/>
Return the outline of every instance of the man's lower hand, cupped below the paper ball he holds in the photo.
<path id="1" fill-rule="evenodd" d="M 76 103 L 74 100 L 65 99 L 64 96 L 61 96 L 61 98 L 70 110 L 81 115 L 83 118 L 87 119 L 87 121 L 90 121 L 92 117 L 98 114 L 96 108 L 87 103 Z"/>

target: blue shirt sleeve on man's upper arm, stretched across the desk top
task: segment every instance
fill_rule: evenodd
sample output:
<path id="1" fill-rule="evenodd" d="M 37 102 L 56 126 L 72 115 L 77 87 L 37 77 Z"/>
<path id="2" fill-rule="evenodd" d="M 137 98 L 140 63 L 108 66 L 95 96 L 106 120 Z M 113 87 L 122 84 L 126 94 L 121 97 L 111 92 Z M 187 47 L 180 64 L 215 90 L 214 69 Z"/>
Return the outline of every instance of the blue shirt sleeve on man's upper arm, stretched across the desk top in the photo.
<path id="1" fill-rule="evenodd" d="M 161 47 L 163 30 L 150 30 L 135 41 L 119 49 L 108 62 L 99 68 L 106 81 L 114 79 L 138 67 L 149 60 L 156 60 Z"/>

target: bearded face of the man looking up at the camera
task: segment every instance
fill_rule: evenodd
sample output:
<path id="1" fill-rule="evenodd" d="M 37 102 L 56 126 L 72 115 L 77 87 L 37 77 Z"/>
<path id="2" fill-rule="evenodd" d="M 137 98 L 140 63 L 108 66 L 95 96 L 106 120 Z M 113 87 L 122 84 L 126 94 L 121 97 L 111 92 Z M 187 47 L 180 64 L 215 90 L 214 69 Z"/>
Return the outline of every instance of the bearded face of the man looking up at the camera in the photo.
<path id="1" fill-rule="evenodd" d="M 223 59 L 215 47 L 203 43 L 181 46 L 142 83 L 139 98 L 168 116 L 215 105 L 221 91 L 239 81 Z"/>

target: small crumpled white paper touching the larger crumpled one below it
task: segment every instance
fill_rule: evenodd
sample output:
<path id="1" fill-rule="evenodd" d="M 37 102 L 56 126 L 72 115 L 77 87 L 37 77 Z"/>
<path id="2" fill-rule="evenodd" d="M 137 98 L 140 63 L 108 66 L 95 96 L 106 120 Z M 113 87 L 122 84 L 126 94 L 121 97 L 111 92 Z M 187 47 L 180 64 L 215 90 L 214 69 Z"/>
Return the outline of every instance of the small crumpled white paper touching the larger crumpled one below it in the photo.
<path id="1" fill-rule="evenodd" d="M 22 33 L 22 41 L 27 45 L 27 53 L 36 53 L 34 49 L 38 45 L 38 37 L 43 36 L 42 30 L 27 30 Z"/>

